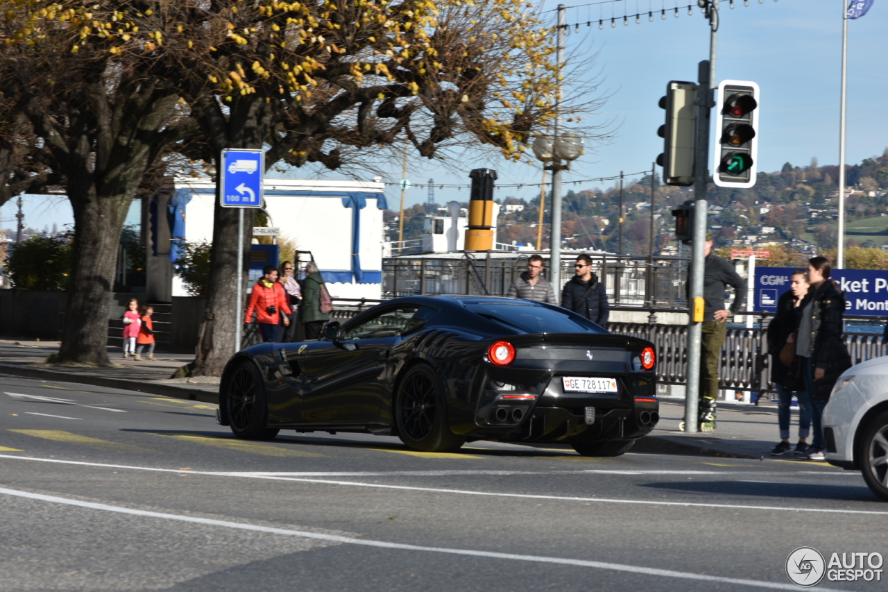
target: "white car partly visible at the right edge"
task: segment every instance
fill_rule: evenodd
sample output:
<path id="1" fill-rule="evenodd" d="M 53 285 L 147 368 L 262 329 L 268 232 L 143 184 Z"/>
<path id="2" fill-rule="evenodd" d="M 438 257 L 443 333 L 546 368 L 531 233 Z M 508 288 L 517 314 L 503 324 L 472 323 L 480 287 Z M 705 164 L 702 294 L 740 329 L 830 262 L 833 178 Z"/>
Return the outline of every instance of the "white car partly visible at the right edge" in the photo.
<path id="1" fill-rule="evenodd" d="M 829 464 L 860 469 L 877 496 L 888 500 L 888 356 L 846 370 L 823 410 Z"/>

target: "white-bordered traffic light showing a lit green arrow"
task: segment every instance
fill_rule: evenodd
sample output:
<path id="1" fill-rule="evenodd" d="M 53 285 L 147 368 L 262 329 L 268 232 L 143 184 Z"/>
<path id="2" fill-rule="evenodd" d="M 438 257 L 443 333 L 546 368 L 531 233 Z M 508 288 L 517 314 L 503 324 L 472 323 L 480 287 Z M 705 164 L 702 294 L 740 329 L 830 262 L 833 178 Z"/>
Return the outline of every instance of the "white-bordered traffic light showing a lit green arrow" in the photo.
<path id="1" fill-rule="evenodd" d="M 725 80 L 718 84 L 715 174 L 719 187 L 756 184 L 758 149 L 758 84 Z"/>

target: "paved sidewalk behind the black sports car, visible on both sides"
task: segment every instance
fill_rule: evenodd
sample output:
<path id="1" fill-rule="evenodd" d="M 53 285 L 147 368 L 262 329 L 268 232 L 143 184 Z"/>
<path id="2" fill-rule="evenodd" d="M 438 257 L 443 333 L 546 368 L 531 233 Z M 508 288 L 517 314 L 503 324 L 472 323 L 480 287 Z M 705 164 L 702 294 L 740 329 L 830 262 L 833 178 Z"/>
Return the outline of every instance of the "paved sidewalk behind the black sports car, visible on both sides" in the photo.
<path id="1" fill-rule="evenodd" d="M 42 366 L 58 351 L 49 341 L 0 338 L 0 374 L 28 376 L 41 380 L 78 382 L 99 387 L 121 388 L 159 396 L 218 404 L 218 379 L 170 379 L 173 372 L 194 359 L 190 354 L 155 354 L 155 361 L 124 360 L 120 348 L 108 348 L 115 368 L 65 368 Z M 686 433 L 678 430 L 685 414 L 684 400 L 663 399 L 660 423 L 650 436 L 638 441 L 633 452 L 694 454 L 730 458 L 768 458 L 777 444 L 777 407 L 749 404 L 722 404 L 718 408 L 717 431 Z M 797 413 L 793 412 L 792 437 L 795 443 Z"/>

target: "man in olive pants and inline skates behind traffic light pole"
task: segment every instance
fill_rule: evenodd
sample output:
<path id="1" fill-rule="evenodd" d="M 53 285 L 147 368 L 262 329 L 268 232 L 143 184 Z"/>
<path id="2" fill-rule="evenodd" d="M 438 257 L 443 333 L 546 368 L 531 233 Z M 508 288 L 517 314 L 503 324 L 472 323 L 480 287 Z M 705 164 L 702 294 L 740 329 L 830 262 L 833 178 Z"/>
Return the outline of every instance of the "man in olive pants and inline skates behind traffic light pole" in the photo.
<path id="1" fill-rule="evenodd" d="M 702 359 L 700 364 L 700 429 L 710 432 L 716 427 L 718 399 L 718 367 L 721 349 L 727 335 L 727 319 L 736 315 L 746 299 L 746 282 L 731 264 L 712 254 L 712 241 L 706 241 L 703 271 L 703 300 L 706 303 L 702 326 Z M 731 310 L 725 310 L 725 287 L 733 288 Z"/>

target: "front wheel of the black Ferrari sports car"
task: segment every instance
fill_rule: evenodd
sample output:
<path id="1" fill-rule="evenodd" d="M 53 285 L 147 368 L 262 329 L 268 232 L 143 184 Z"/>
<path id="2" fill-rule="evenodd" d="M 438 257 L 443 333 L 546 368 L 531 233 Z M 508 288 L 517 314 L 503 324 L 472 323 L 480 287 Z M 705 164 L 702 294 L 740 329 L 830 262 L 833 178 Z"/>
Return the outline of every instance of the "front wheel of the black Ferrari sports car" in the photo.
<path id="1" fill-rule="evenodd" d="M 231 373 L 225 388 L 229 428 L 243 440 L 272 440 L 279 429 L 266 428 L 266 391 L 254 364 L 242 362 Z"/>

